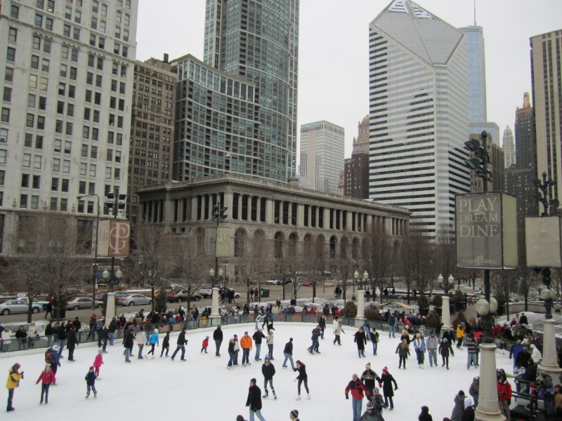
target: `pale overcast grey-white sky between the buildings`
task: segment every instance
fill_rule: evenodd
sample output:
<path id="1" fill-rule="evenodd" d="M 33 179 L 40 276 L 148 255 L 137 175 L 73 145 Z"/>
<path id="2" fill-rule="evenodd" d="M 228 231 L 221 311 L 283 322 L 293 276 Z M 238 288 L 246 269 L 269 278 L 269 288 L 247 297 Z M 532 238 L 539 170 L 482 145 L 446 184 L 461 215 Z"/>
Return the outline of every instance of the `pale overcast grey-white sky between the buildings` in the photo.
<path id="1" fill-rule="evenodd" d="M 357 124 L 369 114 L 369 23 L 390 0 L 301 0 L 300 126 L 327 120 L 346 131 L 351 156 Z M 455 27 L 473 25 L 473 0 L 419 0 Z M 203 59 L 205 0 L 140 0 L 137 59 Z M 529 38 L 562 29 L 561 0 L 476 0 L 486 48 L 488 121 L 514 127 L 523 92 L 531 91 Z M 298 156 L 298 155 L 297 155 Z"/>

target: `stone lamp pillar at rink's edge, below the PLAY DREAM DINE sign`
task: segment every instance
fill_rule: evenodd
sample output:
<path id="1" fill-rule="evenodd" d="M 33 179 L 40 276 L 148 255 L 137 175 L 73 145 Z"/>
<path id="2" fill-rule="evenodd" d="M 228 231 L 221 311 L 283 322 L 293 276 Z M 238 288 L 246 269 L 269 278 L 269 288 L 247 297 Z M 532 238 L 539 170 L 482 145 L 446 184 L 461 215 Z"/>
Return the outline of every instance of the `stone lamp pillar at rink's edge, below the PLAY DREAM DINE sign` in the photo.
<path id="1" fill-rule="evenodd" d="M 480 393 L 476 417 L 478 421 L 505 421 L 497 403 L 496 346 L 480 345 Z"/>

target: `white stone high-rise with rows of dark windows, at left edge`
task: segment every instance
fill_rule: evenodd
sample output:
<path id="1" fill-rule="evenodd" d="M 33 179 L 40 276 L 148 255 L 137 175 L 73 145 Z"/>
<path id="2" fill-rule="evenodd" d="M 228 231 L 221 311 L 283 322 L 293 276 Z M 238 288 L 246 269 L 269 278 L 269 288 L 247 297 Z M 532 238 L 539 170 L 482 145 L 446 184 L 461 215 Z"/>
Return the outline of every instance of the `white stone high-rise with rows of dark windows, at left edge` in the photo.
<path id="1" fill-rule="evenodd" d="M 84 214 L 103 208 L 95 195 L 126 192 L 137 8 L 132 0 L 1 2 L 6 232 L 27 210 L 72 213 L 91 229 Z"/>

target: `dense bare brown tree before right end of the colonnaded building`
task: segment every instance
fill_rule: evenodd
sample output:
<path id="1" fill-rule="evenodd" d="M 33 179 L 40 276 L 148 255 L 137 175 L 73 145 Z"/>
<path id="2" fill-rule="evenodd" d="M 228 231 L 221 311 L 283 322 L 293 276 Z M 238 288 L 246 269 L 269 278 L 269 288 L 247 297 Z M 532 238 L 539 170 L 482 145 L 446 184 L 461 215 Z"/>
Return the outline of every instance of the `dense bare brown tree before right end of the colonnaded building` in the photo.
<path id="1" fill-rule="evenodd" d="M 393 245 L 384 225 L 374 224 L 370 232 L 365 234 L 363 242 L 363 262 L 370 274 L 373 293 L 379 287 L 379 300 L 382 303 L 386 277 L 390 272 Z"/>

